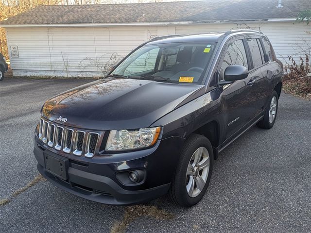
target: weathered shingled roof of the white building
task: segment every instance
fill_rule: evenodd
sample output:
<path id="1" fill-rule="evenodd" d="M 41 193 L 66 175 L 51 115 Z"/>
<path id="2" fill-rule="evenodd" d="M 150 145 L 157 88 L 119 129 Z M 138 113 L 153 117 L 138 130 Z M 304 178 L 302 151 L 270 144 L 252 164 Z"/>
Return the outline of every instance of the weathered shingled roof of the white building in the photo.
<path id="1" fill-rule="evenodd" d="M 310 0 L 205 0 L 136 4 L 38 6 L 7 20 L 7 25 L 109 24 L 245 21 L 297 17 Z"/>

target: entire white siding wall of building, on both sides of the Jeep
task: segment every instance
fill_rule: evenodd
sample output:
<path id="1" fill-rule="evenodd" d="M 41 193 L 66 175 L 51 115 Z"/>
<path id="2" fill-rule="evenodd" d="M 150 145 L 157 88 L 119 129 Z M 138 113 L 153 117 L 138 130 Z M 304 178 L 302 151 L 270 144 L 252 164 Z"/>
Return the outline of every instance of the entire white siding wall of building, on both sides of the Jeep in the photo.
<path id="1" fill-rule="evenodd" d="M 298 62 L 311 44 L 311 25 L 293 22 L 247 22 L 170 26 L 33 27 L 6 28 L 15 76 L 103 76 L 141 43 L 157 35 L 228 31 L 248 26 L 270 39 L 276 56 L 285 63 L 291 55 Z M 10 53 L 10 52 L 9 52 Z M 310 53 L 310 51 L 308 51 Z M 147 66 L 147 65 L 146 65 Z M 148 65 L 149 66 L 149 65 Z"/>

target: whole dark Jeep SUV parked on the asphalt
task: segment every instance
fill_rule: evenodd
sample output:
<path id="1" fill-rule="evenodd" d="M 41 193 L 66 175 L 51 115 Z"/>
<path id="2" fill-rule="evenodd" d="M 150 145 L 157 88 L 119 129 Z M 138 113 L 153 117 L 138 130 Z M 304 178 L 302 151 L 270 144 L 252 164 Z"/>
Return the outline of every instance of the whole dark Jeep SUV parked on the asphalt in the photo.
<path id="1" fill-rule="evenodd" d="M 257 31 L 156 37 L 103 79 L 45 102 L 37 168 L 54 185 L 104 204 L 168 193 L 193 206 L 220 151 L 255 124 L 273 127 L 282 75 Z"/>

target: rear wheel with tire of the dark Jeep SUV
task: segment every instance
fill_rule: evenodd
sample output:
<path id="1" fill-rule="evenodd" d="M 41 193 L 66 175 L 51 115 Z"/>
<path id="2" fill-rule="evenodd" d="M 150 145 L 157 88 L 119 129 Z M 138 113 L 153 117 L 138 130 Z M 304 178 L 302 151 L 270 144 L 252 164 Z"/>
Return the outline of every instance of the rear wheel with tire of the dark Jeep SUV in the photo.
<path id="1" fill-rule="evenodd" d="M 262 120 L 257 123 L 257 126 L 261 129 L 271 129 L 276 122 L 276 114 L 277 114 L 277 106 L 278 106 L 278 96 L 276 91 L 273 92 L 269 105 L 266 109 L 266 113 Z"/>

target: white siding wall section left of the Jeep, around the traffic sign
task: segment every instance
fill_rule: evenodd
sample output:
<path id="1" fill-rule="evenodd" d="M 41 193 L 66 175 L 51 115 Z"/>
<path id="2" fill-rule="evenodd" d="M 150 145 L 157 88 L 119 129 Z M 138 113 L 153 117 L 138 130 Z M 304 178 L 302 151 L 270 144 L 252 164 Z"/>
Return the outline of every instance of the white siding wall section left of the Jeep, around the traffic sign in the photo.
<path id="1" fill-rule="evenodd" d="M 14 75 L 103 76 L 156 33 L 152 27 L 7 28 Z"/>

